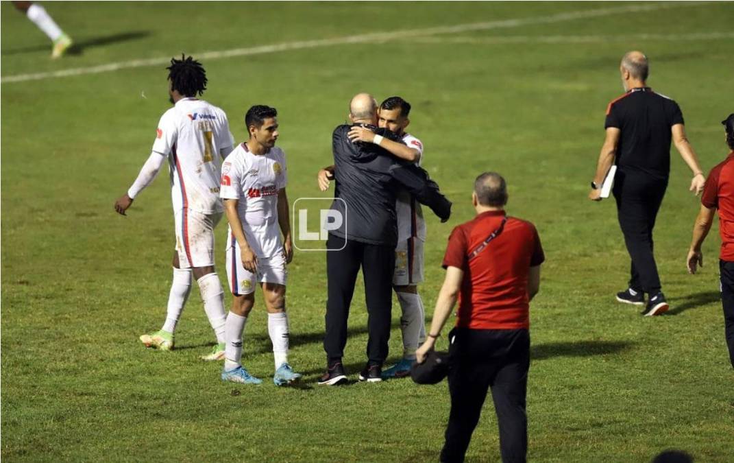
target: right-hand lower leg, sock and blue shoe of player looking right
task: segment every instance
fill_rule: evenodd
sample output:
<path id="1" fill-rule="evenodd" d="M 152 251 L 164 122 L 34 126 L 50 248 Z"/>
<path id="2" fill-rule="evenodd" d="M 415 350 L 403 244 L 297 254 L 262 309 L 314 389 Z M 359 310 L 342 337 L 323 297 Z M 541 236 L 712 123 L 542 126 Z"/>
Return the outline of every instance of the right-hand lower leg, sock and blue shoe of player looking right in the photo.
<path id="1" fill-rule="evenodd" d="M 262 284 L 265 305 L 268 310 L 268 334 L 273 344 L 273 359 L 275 361 L 275 375 L 273 382 L 277 386 L 297 381 L 301 375 L 294 373 L 288 364 L 288 348 L 290 330 L 288 329 L 288 314 L 286 313 L 286 286 L 283 284 Z"/>

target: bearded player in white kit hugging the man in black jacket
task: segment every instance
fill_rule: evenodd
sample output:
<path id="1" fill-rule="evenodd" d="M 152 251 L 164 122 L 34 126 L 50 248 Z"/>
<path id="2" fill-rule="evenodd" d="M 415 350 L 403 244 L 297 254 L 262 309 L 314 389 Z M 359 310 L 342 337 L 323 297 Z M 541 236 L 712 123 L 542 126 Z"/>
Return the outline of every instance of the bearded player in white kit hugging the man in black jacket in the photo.
<path id="1" fill-rule="evenodd" d="M 349 139 L 366 143 L 377 143 L 394 156 L 421 165 L 423 143 L 405 132 L 410 123 L 410 104 L 399 96 L 391 96 L 379 105 L 380 127 L 395 132 L 405 144 L 375 137 L 371 130 L 355 126 Z M 403 336 L 403 358 L 396 365 L 382 372 L 382 378 L 402 378 L 410 375 L 410 365 L 415 362 L 415 351 L 426 338 L 425 309 L 418 283 L 423 281 L 423 250 L 426 241 L 426 221 L 421 204 L 410 193 L 399 193 L 395 204 L 398 219 L 398 245 L 395 248 L 395 271 L 393 289 L 400 302 L 402 316 L 400 329 Z"/>

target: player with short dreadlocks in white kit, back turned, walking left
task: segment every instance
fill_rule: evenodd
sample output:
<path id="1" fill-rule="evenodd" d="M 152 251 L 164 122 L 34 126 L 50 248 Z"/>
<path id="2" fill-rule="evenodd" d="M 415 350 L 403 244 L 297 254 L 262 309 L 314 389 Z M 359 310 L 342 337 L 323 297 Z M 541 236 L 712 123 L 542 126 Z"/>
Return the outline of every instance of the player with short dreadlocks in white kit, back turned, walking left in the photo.
<path id="1" fill-rule="evenodd" d="M 206 90 L 206 71 L 192 57 L 172 59 L 168 80 L 173 107 L 158 124 L 153 152 L 128 193 L 115 202 L 122 215 L 147 187 L 168 159 L 175 221 L 173 281 L 166 321 L 156 332 L 143 334 L 147 347 L 170 351 L 183 306 L 189 297 L 192 275 L 199 285 L 204 310 L 217 335 L 217 345 L 205 360 L 224 358 L 224 291 L 214 270 L 214 227 L 222 218 L 219 200 L 220 159 L 232 151 L 232 135 L 225 112 L 200 96 Z"/>

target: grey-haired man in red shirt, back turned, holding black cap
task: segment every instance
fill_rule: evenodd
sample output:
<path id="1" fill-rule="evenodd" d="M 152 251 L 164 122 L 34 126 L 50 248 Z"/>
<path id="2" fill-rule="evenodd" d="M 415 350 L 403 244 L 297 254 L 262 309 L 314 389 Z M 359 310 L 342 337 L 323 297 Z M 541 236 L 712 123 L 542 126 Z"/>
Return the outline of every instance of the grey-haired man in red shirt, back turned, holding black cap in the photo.
<path id="1" fill-rule="evenodd" d="M 457 325 L 449 334 L 451 414 L 441 461 L 464 461 L 491 387 L 502 461 L 525 462 L 528 303 L 539 290 L 545 256 L 533 224 L 506 216 L 507 187 L 498 173 L 476 178 L 472 202 L 476 218 L 457 226 L 448 238 L 446 279 L 416 357 L 418 363 L 425 361 L 458 300 Z"/>

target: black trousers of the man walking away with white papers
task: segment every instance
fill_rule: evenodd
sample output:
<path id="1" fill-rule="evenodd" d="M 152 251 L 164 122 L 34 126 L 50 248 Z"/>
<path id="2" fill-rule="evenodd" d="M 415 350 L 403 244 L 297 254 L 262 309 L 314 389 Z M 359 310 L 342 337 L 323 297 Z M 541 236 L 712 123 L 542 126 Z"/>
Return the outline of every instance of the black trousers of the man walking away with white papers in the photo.
<path id="1" fill-rule="evenodd" d="M 653 228 L 667 186 L 668 179 L 629 172 L 617 173 L 614 184 L 619 227 L 632 260 L 629 286 L 650 295 L 661 290 L 653 255 Z"/>

